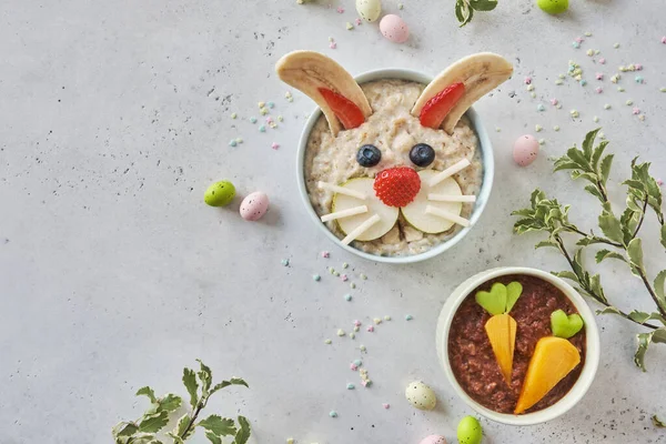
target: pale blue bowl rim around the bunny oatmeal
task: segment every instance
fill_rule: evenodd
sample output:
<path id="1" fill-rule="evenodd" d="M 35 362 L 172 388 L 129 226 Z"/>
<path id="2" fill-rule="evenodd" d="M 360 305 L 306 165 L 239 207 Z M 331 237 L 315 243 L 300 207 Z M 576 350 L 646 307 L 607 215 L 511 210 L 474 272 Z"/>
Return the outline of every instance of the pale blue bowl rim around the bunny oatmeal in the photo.
<path id="1" fill-rule="evenodd" d="M 373 80 L 382 79 L 403 79 L 424 84 L 427 84 L 433 80 L 431 75 L 404 69 L 381 69 L 370 71 L 357 75 L 355 79 L 359 83 L 365 83 Z M 305 188 L 305 149 L 307 147 L 307 139 L 310 137 L 310 132 L 314 128 L 314 124 L 319 120 L 320 115 L 322 115 L 322 111 L 319 108 L 316 108 L 307 119 L 307 122 L 305 122 L 305 128 L 303 129 L 303 133 L 301 134 L 301 140 L 299 142 L 299 151 L 296 153 L 296 176 L 299 181 L 299 192 L 301 193 L 301 198 L 303 199 L 303 203 L 305 204 L 305 209 L 307 210 L 307 213 L 310 214 L 312 221 L 320 228 L 320 230 L 323 231 L 323 233 L 329 239 L 331 239 L 340 248 L 351 253 L 354 253 L 361 258 L 377 262 L 411 263 L 425 261 L 426 259 L 431 259 L 436 256 L 437 254 L 444 253 L 446 250 L 458 243 L 476 224 L 478 218 L 481 218 L 481 213 L 483 212 L 487 200 L 491 195 L 491 189 L 493 186 L 493 176 L 495 172 L 495 160 L 493 159 L 493 147 L 491 145 L 491 139 L 488 138 L 488 134 L 485 128 L 483 127 L 483 123 L 481 122 L 481 118 L 474 111 L 473 108 L 470 108 L 470 110 L 467 110 L 466 112 L 466 115 L 472 122 L 472 127 L 474 128 L 476 137 L 478 138 L 481 162 L 483 165 L 482 185 L 478 195 L 476 196 L 476 203 L 474 204 L 474 209 L 472 210 L 472 215 L 470 216 L 470 226 L 458 231 L 453 238 L 448 239 L 445 242 L 442 242 L 438 245 L 433 246 L 424 253 L 413 254 L 408 256 L 380 256 L 376 254 L 370 254 L 364 251 L 356 250 L 351 245 L 343 245 L 342 242 L 340 242 L 340 239 L 337 239 L 337 236 L 335 236 L 335 234 L 333 234 L 320 220 L 320 216 L 312 208 L 312 203 L 310 202 L 307 190 Z"/>

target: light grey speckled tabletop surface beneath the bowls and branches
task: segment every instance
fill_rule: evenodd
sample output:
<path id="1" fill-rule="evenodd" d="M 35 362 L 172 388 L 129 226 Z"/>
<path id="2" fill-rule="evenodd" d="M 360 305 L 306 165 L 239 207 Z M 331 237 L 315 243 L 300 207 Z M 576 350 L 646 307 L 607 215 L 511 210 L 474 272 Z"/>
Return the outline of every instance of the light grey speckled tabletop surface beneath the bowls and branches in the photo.
<path id="1" fill-rule="evenodd" d="M 565 174 L 551 175 L 561 154 L 601 118 L 616 153 L 610 188 L 642 155 L 666 178 L 666 34 L 663 2 L 574 1 L 548 17 L 532 2 L 501 2 L 457 29 L 453 0 L 405 0 L 407 44 L 384 40 L 376 24 L 346 31 L 350 0 L 339 14 L 323 4 L 287 0 L 204 2 L 84 0 L 0 2 L 0 442 L 104 443 L 110 427 L 144 407 L 133 392 L 152 384 L 179 390 L 182 367 L 203 359 L 219 377 L 238 374 L 250 391 L 231 391 L 211 411 L 252 420 L 258 443 L 287 436 L 310 443 L 416 443 L 431 433 L 454 438 L 471 411 L 438 369 L 434 325 L 448 292 L 496 265 L 563 269 L 535 238 L 511 235 L 508 212 L 542 186 L 572 202 L 576 222 L 594 224 L 597 208 Z M 396 1 L 384 10 L 397 11 Z M 582 49 L 572 41 L 585 31 Z M 329 49 L 329 37 L 337 49 Z M 613 43 L 619 42 L 619 49 Z M 464 54 L 492 50 L 515 62 L 516 75 L 476 107 L 496 151 L 493 199 L 481 223 L 445 256 L 411 266 L 356 260 L 321 236 L 296 195 L 294 151 L 313 103 L 287 90 L 274 62 L 293 49 L 329 53 L 352 73 L 403 67 L 436 73 Z M 599 49 L 594 67 L 585 56 Z M 554 80 L 579 61 L 591 84 Z M 595 59 L 598 59 L 596 57 Z M 645 65 L 646 84 L 624 75 L 626 92 L 607 79 L 618 64 Z M 594 72 L 606 73 L 594 92 Z M 536 99 L 523 79 L 534 79 Z M 509 98 L 509 92 L 515 97 Z M 548 99 L 563 103 L 556 110 Z M 646 115 L 632 115 L 632 99 Z M 260 133 L 256 102 L 276 103 L 284 122 Z M 537 112 L 539 102 L 545 112 Z M 613 105 L 605 111 L 604 103 Z M 581 111 L 575 121 L 571 109 Z M 230 113 L 236 112 L 238 120 Z M 521 170 L 511 159 L 516 137 L 542 124 L 544 155 Z M 559 132 L 553 125 L 562 127 Z M 230 139 L 244 138 L 236 148 Z M 280 150 L 271 150 L 275 141 Z M 241 194 L 266 191 L 270 214 L 243 222 L 230 209 L 202 204 L 211 181 L 231 179 Z M 664 266 L 656 223 L 645 226 L 654 274 Z M 331 259 L 320 256 L 331 251 Z M 280 261 L 291 259 L 284 268 Z M 325 274 L 350 262 L 364 272 L 352 292 Z M 604 264 L 609 297 L 623 307 L 649 306 L 644 289 L 620 264 Z M 323 279 L 316 283 L 313 273 Z M 414 320 L 404 321 L 411 313 Z M 339 339 L 352 321 L 390 314 L 375 333 Z M 515 428 L 483 422 L 486 443 L 666 443 L 649 423 L 666 416 L 666 347 L 649 351 L 649 372 L 632 363 L 633 335 L 623 320 L 601 317 L 604 351 L 588 395 L 552 423 Z M 332 337 L 333 344 L 323 344 Z M 371 390 L 349 362 L 363 355 Z M 402 392 L 422 379 L 440 396 L 434 413 L 412 410 Z M 382 408 L 390 403 L 391 410 Z M 340 416 L 329 417 L 336 410 Z M 201 437 L 198 442 L 203 442 Z"/>

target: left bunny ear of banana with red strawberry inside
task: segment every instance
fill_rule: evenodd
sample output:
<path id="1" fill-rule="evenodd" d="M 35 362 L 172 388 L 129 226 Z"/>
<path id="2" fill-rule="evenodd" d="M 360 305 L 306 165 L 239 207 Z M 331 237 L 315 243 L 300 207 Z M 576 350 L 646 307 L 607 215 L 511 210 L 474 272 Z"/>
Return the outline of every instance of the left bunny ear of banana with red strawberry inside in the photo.
<path id="1" fill-rule="evenodd" d="M 283 82 L 301 90 L 322 109 L 333 135 L 361 125 L 372 108 L 354 78 L 337 62 L 314 51 L 294 51 L 275 64 Z"/>

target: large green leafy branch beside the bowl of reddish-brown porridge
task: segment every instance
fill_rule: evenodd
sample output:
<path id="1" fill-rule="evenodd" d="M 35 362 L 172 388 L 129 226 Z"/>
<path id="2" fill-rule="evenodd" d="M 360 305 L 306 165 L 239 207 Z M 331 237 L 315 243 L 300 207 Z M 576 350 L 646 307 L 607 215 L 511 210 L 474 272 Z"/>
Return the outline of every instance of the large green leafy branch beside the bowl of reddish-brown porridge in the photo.
<path id="1" fill-rule="evenodd" d="M 597 314 L 616 314 L 630 322 L 650 330 L 637 335 L 638 349 L 634 355 L 634 362 L 645 371 L 644 356 L 652 343 L 666 343 L 666 270 L 659 272 L 650 283 L 648 273 L 643 261 L 643 244 L 638 233 L 643 228 L 643 221 L 647 209 L 652 209 L 660 225 L 660 243 L 666 248 L 666 226 L 662 211 L 662 192 L 656 180 L 649 175 L 649 163 L 632 161 L 632 178 L 623 182 L 627 186 L 626 209 L 617 218 L 613 213 L 606 184 L 613 164 L 613 154 L 604 155 L 607 141 L 602 141 L 595 147 L 595 139 L 599 129 L 591 131 L 585 137 L 582 149 L 575 145 L 565 155 L 555 161 L 555 171 L 569 170 L 572 179 L 583 179 L 589 182 L 585 191 L 599 200 L 602 213 L 598 218 L 601 234 L 592 230 L 578 229 L 568 219 L 569 205 L 562 205 L 556 199 L 547 199 L 541 190 L 532 193 L 531 206 L 514 211 L 513 215 L 521 219 L 514 224 L 516 234 L 531 231 L 548 233 L 545 241 L 539 242 L 536 248 L 552 246 L 558 250 L 569 264 L 571 271 L 555 272 L 553 274 L 573 281 L 577 290 L 604 305 Z M 568 233 L 577 236 L 578 246 L 572 254 L 564 242 L 563 234 Z M 625 262 L 634 275 L 640 279 L 655 303 L 656 311 L 646 313 L 637 310 L 625 312 L 612 304 L 602 286 L 599 274 L 592 274 L 583 264 L 583 251 L 589 245 L 603 244 L 613 248 L 598 250 L 595 254 L 597 263 L 606 259 Z M 655 324 L 656 321 L 662 325 Z"/>

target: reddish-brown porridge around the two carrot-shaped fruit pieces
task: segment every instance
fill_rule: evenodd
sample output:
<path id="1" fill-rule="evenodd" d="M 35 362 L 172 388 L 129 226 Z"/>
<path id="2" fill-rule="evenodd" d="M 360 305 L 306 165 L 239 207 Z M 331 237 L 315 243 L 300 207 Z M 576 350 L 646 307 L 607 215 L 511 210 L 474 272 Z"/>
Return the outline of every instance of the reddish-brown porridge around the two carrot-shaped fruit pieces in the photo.
<path id="1" fill-rule="evenodd" d="M 506 384 L 484 330 L 491 315 L 476 303 L 478 291 L 501 282 L 519 282 L 523 294 L 511 311 L 517 323 L 511 386 Z M 551 336 L 551 313 L 577 313 L 574 304 L 553 284 L 538 278 L 508 275 L 485 282 L 470 293 L 453 317 L 448 333 L 448 360 L 458 384 L 481 405 L 498 413 L 513 413 L 521 395 L 529 360 L 539 339 Z M 585 363 L 585 329 L 569 339 L 581 353 L 581 364 L 525 413 L 546 408 L 559 401 L 575 384 Z"/>

